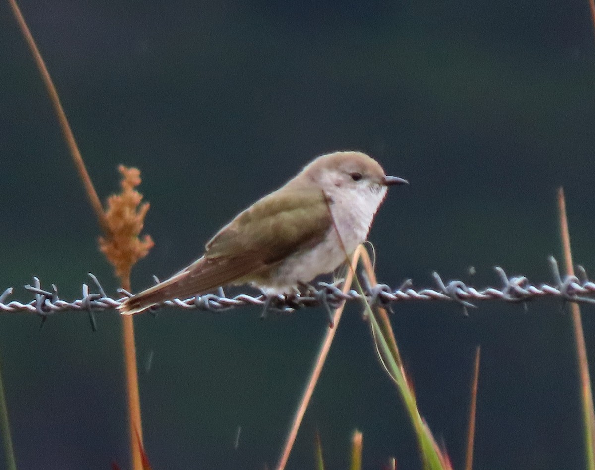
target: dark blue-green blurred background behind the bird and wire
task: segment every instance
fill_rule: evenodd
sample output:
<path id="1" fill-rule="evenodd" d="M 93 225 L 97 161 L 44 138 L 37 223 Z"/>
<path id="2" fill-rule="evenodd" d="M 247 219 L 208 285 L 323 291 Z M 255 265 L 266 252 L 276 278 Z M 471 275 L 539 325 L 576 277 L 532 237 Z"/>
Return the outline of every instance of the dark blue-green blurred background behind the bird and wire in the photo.
<path id="1" fill-rule="evenodd" d="M 375 156 L 411 186 L 372 227 L 381 281 L 431 271 L 478 286 L 492 267 L 551 279 L 555 193 L 566 189 L 575 261 L 595 272 L 595 40 L 587 0 L 455 2 L 39 2 L 22 0 L 102 197 L 117 164 L 142 170 L 156 246 L 135 290 L 192 261 L 240 209 L 336 149 Z M 115 294 L 98 227 L 7 2 L 0 4 L 0 287 L 41 278 Z M 585 337 L 595 363 L 593 308 Z M 261 469 L 277 460 L 324 311 L 162 311 L 135 320 L 145 445 L 155 469 Z M 417 447 L 359 309 L 347 309 L 287 468 L 365 468 Z M 0 354 L 19 468 L 129 465 L 120 319 L 2 315 Z M 482 346 L 475 468 L 583 466 L 568 312 L 555 302 L 397 305 L 397 342 L 422 415 L 464 462 L 469 380 Z M 152 368 L 145 362 L 152 355 Z M 595 372 L 595 371 L 592 371 Z M 233 450 L 237 426 L 240 445 Z M 0 464 L 1 465 L 1 464 Z"/>

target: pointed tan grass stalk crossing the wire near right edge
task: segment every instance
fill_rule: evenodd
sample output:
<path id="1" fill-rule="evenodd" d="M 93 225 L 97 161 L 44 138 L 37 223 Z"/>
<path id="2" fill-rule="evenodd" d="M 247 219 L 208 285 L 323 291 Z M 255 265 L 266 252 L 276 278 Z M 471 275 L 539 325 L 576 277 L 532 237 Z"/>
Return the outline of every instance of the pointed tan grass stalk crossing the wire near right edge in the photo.
<path id="1" fill-rule="evenodd" d="M 570 233 L 568 230 L 568 217 L 566 216 L 566 199 L 564 189 L 558 190 L 558 210 L 560 215 L 560 236 L 562 238 L 562 250 L 566 264 L 566 274 L 574 275 L 572 266 L 572 252 L 570 247 Z M 581 311 L 577 303 L 571 303 L 572 327 L 574 330 L 575 347 L 577 349 L 577 368 L 581 385 L 581 405 L 583 408 L 583 428 L 585 463 L 588 470 L 595 469 L 595 418 L 593 413 L 593 394 L 591 393 L 591 380 L 589 378 L 589 367 L 587 362 L 587 347 L 583 333 L 583 321 Z"/>

